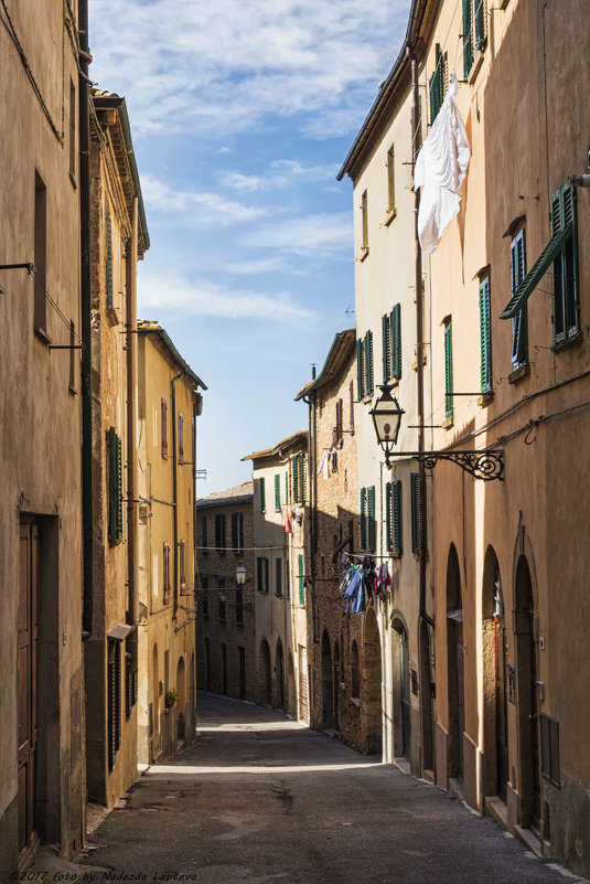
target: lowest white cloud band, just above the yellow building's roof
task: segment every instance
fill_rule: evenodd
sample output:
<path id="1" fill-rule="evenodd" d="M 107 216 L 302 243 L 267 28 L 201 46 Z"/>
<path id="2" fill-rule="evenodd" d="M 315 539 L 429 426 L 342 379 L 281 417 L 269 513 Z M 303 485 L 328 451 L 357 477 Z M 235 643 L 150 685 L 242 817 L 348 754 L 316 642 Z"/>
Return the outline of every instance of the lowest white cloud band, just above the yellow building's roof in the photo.
<path id="1" fill-rule="evenodd" d="M 184 316 L 253 319 L 269 322 L 305 322 L 313 313 L 294 303 L 286 292 L 273 296 L 223 288 L 210 279 L 187 280 L 167 275 L 141 274 L 140 310 L 164 309 Z"/>

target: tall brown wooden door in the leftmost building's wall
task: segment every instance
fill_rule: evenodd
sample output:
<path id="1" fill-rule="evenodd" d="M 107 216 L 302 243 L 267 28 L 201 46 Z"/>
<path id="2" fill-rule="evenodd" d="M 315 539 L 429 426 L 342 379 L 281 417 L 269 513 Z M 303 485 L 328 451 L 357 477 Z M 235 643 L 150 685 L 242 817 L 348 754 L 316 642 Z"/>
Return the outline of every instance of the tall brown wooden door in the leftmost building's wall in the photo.
<path id="1" fill-rule="evenodd" d="M 18 764 L 19 764 L 19 866 L 34 853 L 35 754 L 37 742 L 37 571 L 39 533 L 32 522 L 21 524 L 18 621 Z"/>

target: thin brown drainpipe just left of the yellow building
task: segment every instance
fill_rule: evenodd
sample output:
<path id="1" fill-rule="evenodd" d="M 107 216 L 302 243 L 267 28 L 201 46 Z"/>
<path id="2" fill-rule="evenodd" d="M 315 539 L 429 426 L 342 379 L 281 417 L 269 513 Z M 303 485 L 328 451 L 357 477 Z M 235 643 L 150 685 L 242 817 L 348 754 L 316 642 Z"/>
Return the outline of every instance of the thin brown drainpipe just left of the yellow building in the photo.
<path id="1" fill-rule="evenodd" d="M 137 466 L 137 236 L 138 199 L 133 198 L 131 237 L 127 242 L 127 578 L 131 632 L 131 671 L 138 671 L 139 511 Z"/>

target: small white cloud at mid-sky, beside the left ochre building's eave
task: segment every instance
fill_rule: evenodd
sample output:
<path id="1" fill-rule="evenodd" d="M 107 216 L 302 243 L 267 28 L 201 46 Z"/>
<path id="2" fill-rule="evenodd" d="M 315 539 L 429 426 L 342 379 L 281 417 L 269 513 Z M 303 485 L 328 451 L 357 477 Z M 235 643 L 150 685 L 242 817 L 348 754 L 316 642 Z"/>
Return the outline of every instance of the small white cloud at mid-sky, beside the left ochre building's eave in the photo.
<path id="1" fill-rule="evenodd" d="M 153 175 L 141 178 L 141 191 L 148 212 L 179 215 L 179 223 L 192 227 L 228 227 L 268 214 L 262 206 L 244 205 L 211 191 L 174 190 Z"/>

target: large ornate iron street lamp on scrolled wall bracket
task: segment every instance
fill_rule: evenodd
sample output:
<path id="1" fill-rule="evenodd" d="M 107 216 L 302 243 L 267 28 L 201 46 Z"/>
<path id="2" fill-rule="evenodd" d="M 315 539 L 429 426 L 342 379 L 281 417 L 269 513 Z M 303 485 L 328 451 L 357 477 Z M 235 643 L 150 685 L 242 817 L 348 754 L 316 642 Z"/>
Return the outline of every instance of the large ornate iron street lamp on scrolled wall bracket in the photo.
<path id="1" fill-rule="evenodd" d="M 504 479 L 504 451 L 501 448 L 490 449 L 480 448 L 472 450 L 451 450 L 443 451 L 396 451 L 393 447 L 397 443 L 401 415 L 405 411 L 399 407 L 396 398 L 391 396 L 391 387 L 385 384 L 380 386 L 382 395 L 375 401 L 369 414 L 375 424 L 375 433 L 383 450 L 385 451 L 385 465 L 391 466 L 394 457 L 414 457 L 421 461 L 429 470 L 433 469 L 439 460 L 452 460 L 462 470 L 469 472 L 474 479 L 482 479 L 490 482 L 493 479 L 503 481 Z"/>

